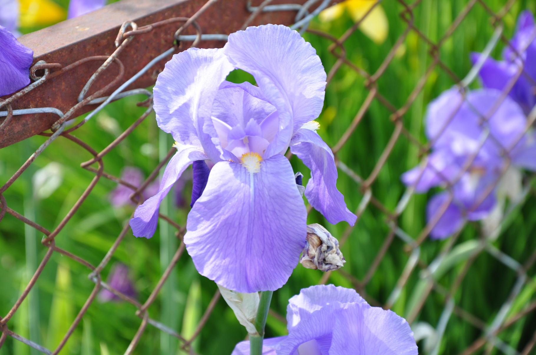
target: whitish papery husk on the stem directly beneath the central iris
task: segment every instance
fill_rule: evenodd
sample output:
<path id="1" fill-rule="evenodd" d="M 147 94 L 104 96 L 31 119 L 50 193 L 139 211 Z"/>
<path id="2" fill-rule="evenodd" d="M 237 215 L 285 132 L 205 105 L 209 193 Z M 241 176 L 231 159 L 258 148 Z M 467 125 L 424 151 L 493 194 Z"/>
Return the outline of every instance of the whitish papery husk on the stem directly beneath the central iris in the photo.
<path id="1" fill-rule="evenodd" d="M 218 285 L 218 288 L 220 289 L 221 296 L 225 299 L 229 307 L 231 307 L 236 315 L 236 319 L 245 327 L 245 330 L 249 334 L 258 335 L 254 324 L 259 308 L 260 297 L 258 292 L 243 294 L 242 292 L 229 290 L 221 285 Z"/>

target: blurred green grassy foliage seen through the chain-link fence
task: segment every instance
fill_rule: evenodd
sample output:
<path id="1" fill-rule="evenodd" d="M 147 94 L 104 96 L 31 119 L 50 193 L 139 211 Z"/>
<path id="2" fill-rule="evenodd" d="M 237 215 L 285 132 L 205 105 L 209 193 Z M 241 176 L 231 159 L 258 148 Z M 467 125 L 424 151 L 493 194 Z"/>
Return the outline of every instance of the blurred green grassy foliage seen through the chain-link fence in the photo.
<path id="1" fill-rule="evenodd" d="M 66 7 L 68 1 L 58 2 Z M 504 6 L 504 0 L 487 0 L 486 3 L 494 11 Z M 452 24 L 452 21 L 464 9 L 465 0 L 423 0 L 414 11 L 415 26 L 431 40 L 437 41 Z M 392 45 L 406 28 L 401 20 L 403 7 L 394 0 L 385 0 L 383 8 L 389 18 L 389 37 L 381 45 L 376 45 L 361 32 L 355 32 L 346 42 L 347 58 L 355 65 L 374 73 L 383 62 Z M 536 11 L 533 1 L 518 1 L 504 17 L 505 36 L 511 37 L 515 22 L 520 11 L 530 9 Z M 349 17 L 333 22 L 320 24 L 312 22 L 312 28 L 327 30 L 334 36 L 340 36 L 351 27 Z M 471 68 L 469 53 L 482 51 L 493 34 L 489 14 L 477 3 L 474 9 L 461 22 L 452 37 L 441 47 L 441 60 L 459 78 L 463 78 Z M 318 55 L 329 71 L 336 60 L 327 47 L 331 44 L 325 38 L 306 34 L 306 40 L 316 48 Z M 504 44 L 500 43 L 492 53 L 500 58 Z M 431 63 L 428 51 L 430 48 L 414 32 L 404 41 L 404 50 L 400 51 L 378 81 L 378 89 L 394 106 L 401 107 L 408 96 L 425 74 Z M 232 80 L 241 82 L 248 76 L 234 72 Z M 440 68 L 436 67 L 425 83 L 425 88 L 416 98 L 410 111 L 404 116 L 404 126 L 422 143 L 426 142 L 423 134 L 423 114 L 427 104 L 440 93 L 450 88 L 455 82 Z M 479 87 L 479 83 L 473 83 Z M 318 133 L 330 144 L 335 144 L 348 127 L 356 112 L 368 94 L 364 88 L 364 78 L 347 66 L 343 66 L 326 91 L 323 113 L 318 119 L 321 129 Z M 99 151 L 122 132 L 144 112 L 143 107 L 135 103 L 141 97 L 129 97 L 110 104 L 98 117 L 90 120 L 75 132 L 86 143 Z M 118 125 L 118 131 L 110 129 L 110 122 Z M 108 128 L 107 128 L 108 127 Z M 393 132 L 394 125 L 390 121 L 390 112 L 374 101 L 351 139 L 338 153 L 338 157 L 356 173 L 367 177 L 373 170 L 376 161 L 385 148 Z M 0 150 L 0 182 L 5 182 L 18 167 L 31 155 L 43 141 L 44 137 L 35 136 Z M 172 138 L 162 134 L 154 120 L 154 114 L 146 119 L 117 149 L 104 158 L 105 171 L 119 176 L 124 166 L 137 166 L 147 176 L 158 164 L 162 152 L 166 152 L 172 144 Z M 159 157 L 160 156 L 160 157 Z M 34 215 L 36 222 L 52 229 L 75 203 L 83 190 L 90 183 L 94 174 L 79 167 L 79 163 L 90 159 L 90 155 L 78 145 L 62 138 L 47 148 L 30 168 L 5 192 L 4 196 L 11 209 L 26 215 Z M 400 182 L 400 174 L 418 163 L 418 149 L 403 136 L 394 146 L 387 164 L 382 168 L 373 184 L 374 196 L 391 211 L 394 210 L 405 188 Z M 50 197 L 34 200 L 32 192 L 32 175 L 39 167 L 51 161 L 63 165 L 64 181 L 62 186 Z M 295 171 L 309 176 L 308 169 L 292 158 Z M 347 175 L 340 172 L 338 187 L 345 195 L 349 209 L 355 211 L 362 199 L 359 186 Z M 115 183 L 101 179 L 92 194 L 80 207 L 75 217 L 56 237 L 59 247 L 79 255 L 93 265 L 99 264 L 115 238 L 128 220 L 132 207 L 114 209 L 109 202 L 109 192 Z M 189 205 L 191 182 L 182 191 L 182 196 Z M 415 238 L 425 226 L 425 207 L 429 195 L 414 195 L 406 210 L 399 218 L 399 226 Z M 508 221 L 508 228 L 502 231 L 494 245 L 509 254 L 512 258 L 524 263 L 536 249 L 536 199 L 530 194 Z M 178 209 L 169 199 L 164 207 L 168 214 L 184 225 L 189 207 Z M 347 227 L 345 222 L 332 226 L 321 214 L 312 211 L 309 222 L 320 222 L 336 236 L 340 236 Z M 369 266 L 380 250 L 389 232 L 386 215 L 373 205 L 364 211 L 361 220 L 349 236 L 343 247 L 347 264 L 343 273 L 333 273 L 329 282 L 344 287 L 353 287 L 353 279 L 362 280 Z M 456 244 L 459 253 L 452 263 L 445 266 L 437 281 L 446 289 L 450 287 L 456 276 L 463 271 L 470 254 L 462 249 L 469 245 L 468 241 L 480 235 L 479 223 L 466 226 Z M 42 235 L 11 215 L 6 214 L 0 223 L 0 314 L 6 314 L 21 290 L 28 282 L 31 270 L 39 263 L 46 248 L 40 244 Z M 429 264 L 441 251 L 445 241 L 427 240 L 421 246 L 420 260 Z M 465 243 L 465 244 L 464 244 Z M 135 238 L 130 233 L 125 237 L 112 261 L 121 261 L 131 268 L 135 285 L 142 302 L 147 299 L 154 285 L 158 282 L 163 268 L 173 255 L 178 245 L 174 231 L 165 223 L 161 223 L 155 236 L 146 240 Z M 456 248 L 455 248 L 456 250 Z M 366 298 L 384 304 L 400 277 L 401 270 L 408 260 L 404 251 L 404 243 L 398 238 L 386 252 L 381 264 L 367 284 Z M 111 265 L 111 264 L 110 264 Z M 109 272 L 108 266 L 103 275 Z M 535 274 L 535 267 L 528 269 L 528 275 Z M 54 349 L 61 337 L 69 328 L 80 307 L 84 304 L 94 287 L 87 278 L 88 270 L 74 261 L 55 253 L 44 269 L 33 291 L 33 301 L 25 302 L 14 318 L 9 322 L 10 328 L 16 333 L 30 337 L 36 342 Z M 461 287 L 455 294 L 456 304 L 489 325 L 501 305 L 507 299 L 516 274 L 487 253 L 481 253 L 468 269 Z M 321 272 L 304 269 L 298 266 L 291 279 L 282 289 L 274 293 L 272 309 L 285 315 L 288 299 L 297 294 L 303 287 L 316 284 L 322 277 Z M 407 317 L 419 295 L 420 275 L 413 272 L 401 297 L 392 310 Z M 215 284 L 197 274 L 191 259 L 185 253 L 175 268 L 172 277 L 157 302 L 150 308 L 151 317 L 160 319 L 168 326 L 183 335 L 189 335 L 209 304 Z M 514 300 L 511 313 L 522 310 L 531 300 L 535 299 L 534 283 L 525 285 L 523 291 Z M 444 308 L 444 296 L 432 291 L 427 298 L 422 312 L 416 321 L 425 321 L 436 326 Z M 84 321 L 76 329 L 68 342 L 63 354 L 121 354 L 135 335 L 140 319 L 135 315 L 136 308 L 126 303 L 94 302 L 89 308 Z M 529 314 L 501 334 L 504 342 L 512 348 L 521 350 L 532 337 L 536 328 L 536 316 Z M 267 322 L 267 336 L 285 335 L 286 326 L 280 319 L 270 315 Z M 246 333 L 237 322 L 232 311 L 223 300 L 204 327 L 200 339 L 195 343 L 196 351 L 202 354 L 230 354 L 234 345 L 243 340 Z M 440 353 L 454 354 L 469 346 L 481 336 L 481 331 L 470 323 L 452 315 L 443 338 Z M 419 344 L 421 345 L 421 343 Z M 422 349 L 421 349 L 422 352 Z M 0 355 L 26 355 L 36 353 L 27 346 L 8 338 L 0 350 Z M 142 341 L 136 350 L 137 354 L 162 355 L 181 353 L 177 342 L 162 334 L 158 329 L 148 326 Z M 490 353 L 498 353 L 492 350 Z"/>

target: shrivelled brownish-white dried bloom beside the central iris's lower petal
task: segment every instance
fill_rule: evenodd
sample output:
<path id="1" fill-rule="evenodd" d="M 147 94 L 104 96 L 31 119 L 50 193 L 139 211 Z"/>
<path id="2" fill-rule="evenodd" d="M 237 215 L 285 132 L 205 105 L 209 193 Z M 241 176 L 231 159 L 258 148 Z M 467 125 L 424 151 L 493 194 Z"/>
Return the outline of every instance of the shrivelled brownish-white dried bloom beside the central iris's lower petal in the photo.
<path id="1" fill-rule="evenodd" d="M 307 243 L 300 263 L 308 269 L 331 271 L 343 267 L 346 260 L 339 250 L 339 241 L 324 227 L 312 223 L 307 226 Z"/>

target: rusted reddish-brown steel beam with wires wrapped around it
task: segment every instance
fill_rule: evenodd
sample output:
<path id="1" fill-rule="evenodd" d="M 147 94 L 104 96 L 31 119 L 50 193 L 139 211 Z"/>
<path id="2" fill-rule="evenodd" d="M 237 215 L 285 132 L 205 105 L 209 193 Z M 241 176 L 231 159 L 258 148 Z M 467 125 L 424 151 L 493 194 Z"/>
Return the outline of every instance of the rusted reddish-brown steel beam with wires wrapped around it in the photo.
<path id="1" fill-rule="evenodd" d="M 293 0 L 294 3 L 299 4 L 305 1 Z M 274 0 L 271 4 L 286 2 Z M 34 63 L 44 60 L 47 63 L 59 63 L 65 67 L 87 57 L 110 56 L 116 50 L 114 40 L 124 21 L 132 20 L 138 27 L 142 27 L 173 17 L 190 17 L 205 3 L 206 0 L 122 0 L 84 16 L 21 36 L 19 41 L 34 50 Z M 254 5 L 258 3 L 260 1 L 255 1 Z M 221 0 L 210 6 L 196 22 L 205 34 L 235 32 L 251 14 L 246 4 L 246 0 Z M 291 25 L 295 15 L 295 11 L 260 13 L 250 25 L 267 23 Z M 136 35 L 118 56 L 124 65 L 124 75 L 113 87 L 106 90 L 106 95 L 111 94 L 154 57 L 173 47 L 174 33 L 182 24 L 183 22 L 175 22 L 155 28 L 151 32 Z M 183 34 L 196 34 L 195 28 L 190 26 Z M 222 41 L 202 41 L 198 47 L 219 48 L 224 44 L 225 42 Z M 189 45 L 190 43 L 181 44 L 176 52 L 188 48 Z M 146 88 L 154 84 L 158 73 L 168 59 L 161 60 L 125 90 Z M 98 60 L 90 60 L 47 80 L 14 101 L 11 104 L 12 109 L 56 107 L 65 113 L 78 103 L 80 91 L 103 62 L 102 57 Z M 119 67 L 117 63 L 112 63 L 102 72 L 93 83 L 88 95 L 112 82 L 119 73 Z M 50 75 L 58 71 L 61 69 L 52 68 Z M 73 117 L 91 111 L 95 107 L 96 105 L 82 106 Z M 3 107 L 0 110 L 6 110 L 6 108 Z M 4 119 L 0 118 L 0 123 Z M 0 128 L 0 148 L 49 129 L 57 119 L 58 116 L 52 113 L 14 116 Z"/>

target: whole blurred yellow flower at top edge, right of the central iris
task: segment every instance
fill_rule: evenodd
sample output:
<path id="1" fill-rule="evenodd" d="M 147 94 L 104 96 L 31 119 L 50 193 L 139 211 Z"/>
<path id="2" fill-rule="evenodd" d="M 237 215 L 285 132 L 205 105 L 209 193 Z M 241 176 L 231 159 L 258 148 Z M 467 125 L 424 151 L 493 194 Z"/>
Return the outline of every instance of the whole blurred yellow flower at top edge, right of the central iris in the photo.
<path id="1" fill-rule="evenodd" d="M 349 12 L 354 22 L 358 22 L 377 3 L 377 0 L 346 0 L 328 7 L 319 14 L 323 22 L 340 18 L 344 11 Z M 389 32 L 389 22 L 381 5 L 377 5 L 359 25 L 359 29 L 374 42 L 380 44 L 385 41 Z"/>

